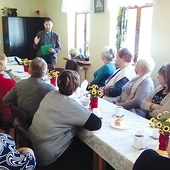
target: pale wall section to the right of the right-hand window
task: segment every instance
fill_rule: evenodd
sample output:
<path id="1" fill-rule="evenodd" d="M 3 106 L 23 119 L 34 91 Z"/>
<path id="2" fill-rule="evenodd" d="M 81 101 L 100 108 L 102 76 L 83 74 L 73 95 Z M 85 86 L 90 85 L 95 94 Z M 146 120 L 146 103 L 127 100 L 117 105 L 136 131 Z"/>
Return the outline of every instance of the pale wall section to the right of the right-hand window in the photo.
<path id="1" fill-rule="evenodd" d="M 170 1 L 156 0 L 153 9 L 151 57 L 154 58 L 156 66 L 152 77 L 157 86 L 159 67 L 164 63 L 170 63 Z"/>

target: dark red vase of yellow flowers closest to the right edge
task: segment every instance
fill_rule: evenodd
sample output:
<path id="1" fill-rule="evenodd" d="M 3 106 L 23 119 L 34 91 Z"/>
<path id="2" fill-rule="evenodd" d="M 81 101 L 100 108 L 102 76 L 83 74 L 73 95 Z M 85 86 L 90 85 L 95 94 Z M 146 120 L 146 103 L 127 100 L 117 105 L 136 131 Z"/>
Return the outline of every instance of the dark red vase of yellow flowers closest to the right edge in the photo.
<path id="1" fill-rule="evenodd" d="M 169 142 L 169 133 L 168 134 L 161 134 L 159 135 L 159 149 L 160 150 L 166 150 L 168 147 Z"/>

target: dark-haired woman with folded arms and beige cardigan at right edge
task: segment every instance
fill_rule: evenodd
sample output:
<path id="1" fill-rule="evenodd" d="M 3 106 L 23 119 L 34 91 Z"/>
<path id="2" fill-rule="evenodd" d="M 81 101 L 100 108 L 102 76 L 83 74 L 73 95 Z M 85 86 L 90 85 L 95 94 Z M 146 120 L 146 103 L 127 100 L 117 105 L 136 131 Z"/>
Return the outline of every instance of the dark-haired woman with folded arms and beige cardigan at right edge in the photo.
<path id="1" fill-rule="evenodd" d="M 170 112 L 170 64 L 159 69 L 158 80 L 160 85 L 141 104 L 141 108 L 147 111 L 148 119 L 164 111 Z"/>

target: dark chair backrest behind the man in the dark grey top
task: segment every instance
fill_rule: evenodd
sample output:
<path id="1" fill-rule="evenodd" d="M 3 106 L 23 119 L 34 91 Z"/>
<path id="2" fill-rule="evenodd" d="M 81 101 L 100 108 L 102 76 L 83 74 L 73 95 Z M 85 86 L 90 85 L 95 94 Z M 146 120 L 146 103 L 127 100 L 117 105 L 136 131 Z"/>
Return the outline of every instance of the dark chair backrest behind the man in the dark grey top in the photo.
<path id="1" fill-rule="evenodd" d="M 28 131 L 31 123 L 32 123 L 32 116 L 29 116 L 26 112 L 19 109 L 18 107 L 11 105 L 11 112 L 13 115 L 13 123 L 16 125 L 21 126 L 24 130 Z"/>

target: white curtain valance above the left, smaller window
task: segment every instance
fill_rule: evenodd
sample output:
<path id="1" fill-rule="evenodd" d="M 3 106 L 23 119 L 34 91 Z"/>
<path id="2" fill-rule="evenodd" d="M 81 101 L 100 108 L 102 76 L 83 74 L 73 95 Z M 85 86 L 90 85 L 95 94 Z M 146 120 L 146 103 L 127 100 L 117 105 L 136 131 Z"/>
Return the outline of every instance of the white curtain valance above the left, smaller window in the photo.
<path id="1" fill-rule="evenodd" d="M 90 0 L 62 0 L 61 12 L 90 11 Z"/>

